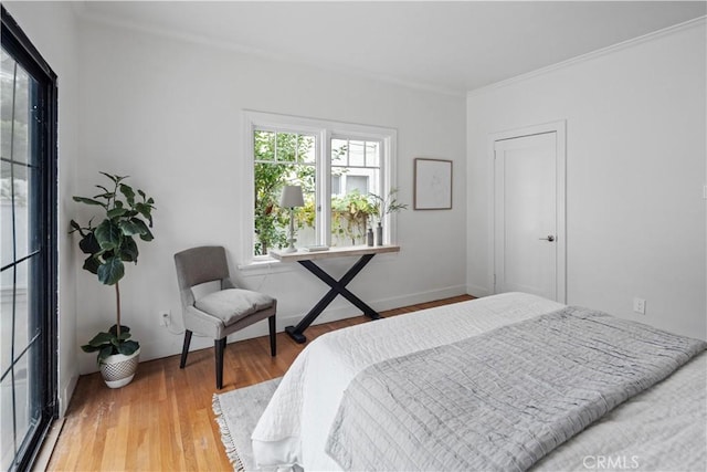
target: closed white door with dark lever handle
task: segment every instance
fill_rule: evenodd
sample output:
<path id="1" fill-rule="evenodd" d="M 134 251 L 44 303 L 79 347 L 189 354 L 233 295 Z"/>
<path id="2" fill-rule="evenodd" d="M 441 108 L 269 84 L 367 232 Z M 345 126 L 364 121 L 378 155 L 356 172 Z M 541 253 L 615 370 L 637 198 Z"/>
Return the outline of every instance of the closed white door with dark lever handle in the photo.
<path id="1" fill-rule="evenodd" d="M 564 263 L 563 244 L 558 244 L 564 235 L 558 231 L 558 209 L 563 208 L 558 193 L 564 198 L 558 192 L 563 189 L 558 148 L 557 132 L 494 141 L 495 293 L 564 301 L 563 271 L 558 274 Z"/>

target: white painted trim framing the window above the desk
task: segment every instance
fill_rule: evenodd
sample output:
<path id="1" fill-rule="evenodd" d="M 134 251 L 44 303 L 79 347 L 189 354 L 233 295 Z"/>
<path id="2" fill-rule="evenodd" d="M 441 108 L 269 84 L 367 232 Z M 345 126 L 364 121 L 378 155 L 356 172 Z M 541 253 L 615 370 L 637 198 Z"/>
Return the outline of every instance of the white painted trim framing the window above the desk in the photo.
<path id="1" fill-rule="evenodd" d="M 379 140 L 383 158 L 380 161 L 380 174 L 382 188 L 390 191 L 395 188 L 397 176 L 397 143 L 398 132 L 393 128 L 381 126 L 368 126 L 344 122 L 333 122 L 328 119 L 314 119 L 302 116 L 281 115 L 245 109 L 243 111 L 243 147 L 245 169 L 241 172 L 240 203 L 243 221 L 240 240 L 240 269 L 273 268 L 279 264 L 271 256 L 253 255 L 253 207 L 254 202 L 254 166 L 253 159 L 253 132 L 256 128 L 273 128 L 278 132 L 309 133 L 316 136 L 319 146 L 317 160 L 317 175 L 328 176 L 331 172 L 331 162 L 327 156 L 331 155 L 331 136 L 347 136 L 349 138 L 360 138 L 363 140 Z M 321 196 L 330 195 L 330 179 L 317 179 L 317 191 Z M 382 196 L 386 197 L 386 196 Z M 316 228 L 319 231 L 319 239 L 325 244 L 330 244 L 329 228 L 324 228 L 321 213 L 316 213 Z M 384 240 L 394 244 L 397 241 L 397 223 L 394 213 L 383 217 Z"/>

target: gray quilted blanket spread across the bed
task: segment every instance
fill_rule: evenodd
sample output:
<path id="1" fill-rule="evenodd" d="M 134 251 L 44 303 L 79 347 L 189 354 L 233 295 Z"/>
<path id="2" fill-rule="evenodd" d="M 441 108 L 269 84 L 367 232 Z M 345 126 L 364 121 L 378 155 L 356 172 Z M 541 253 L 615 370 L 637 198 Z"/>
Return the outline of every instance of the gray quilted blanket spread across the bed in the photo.
<path id="1" fill-rule="evenodd" d="M 527 470 L 706 347 L 567 307 L 365 369 L 327 453 L 344 470 Z"/>

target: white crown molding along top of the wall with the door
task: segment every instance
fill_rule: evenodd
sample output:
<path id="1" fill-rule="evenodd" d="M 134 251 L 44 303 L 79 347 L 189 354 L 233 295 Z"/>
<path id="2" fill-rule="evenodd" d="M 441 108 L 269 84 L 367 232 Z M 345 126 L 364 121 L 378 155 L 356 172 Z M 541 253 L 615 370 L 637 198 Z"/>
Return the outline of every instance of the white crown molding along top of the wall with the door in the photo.
<path id="1" fill-rule="evenodd" d="M 612 53 L 614 53 L 616 51 L 622 51 L 624 49 L 633 48 L 635 45 L 643 44 L 643 43 L 646 43 L 646 42 L 650 42 L 650 41 L 654 41 L 654 40 L 657 40 L 657 39 L 663 38 L 663 36 L 675 34 L 675 33 L 680 32 L 680 31 L 686 31 L 686 30 L 689 30 L 689 29 L 693 29 L 693 28 L 703 27 L 706 23 L 707 23 L 707 15 L 698 17 L 698 18 L 695 18 L 693 20 L 688 20 L 688 21 L 685 21 L 683 23 L 675 24 L 673 27 L 668 27 L 668 28 L 664 28 L 662 30 L 653 31 L 653 32 L 644 34 L 642 36 L 632 38 L 630 40 L 622 41 L 620 43 L 612 44 L 610 46 L 602 48 L 602 49 L 599 49 L 597 51 L 588 52 L 587 54 L 578 55 L 576 57 L 571 57 L 571 59 L 568 59 L 566 61 L 558 62 L 557 64 L 548 65 L 547 67 L 541 67 L 541 69 L 538 69 L 538 70 L 532 71 L 532 72 L 528 72 L 528 73 L 525 73 L 525 74 L 516 75 L 515 77 L 506 78 L 506 80 L 500 81 L 500 82 L 495 82 L 493 84 L 485 85 L 485 86 L 479 87 L 479 88 L 474 88 L 473 91 L 468 91 L 466 93 L 466 96 L 467 97 L 472 97 L 472 96 L 475 96 L 475 95 L 482 95 L 482 94 L 484 94 L 486 92 L 489 92 L 489 91 L 493 91 L 493 90 L 496 90 L 496 88 L 503 88 L 503 87 L 506 87 L 506 86 L 509 86 L 509 85 L 517 84 L 519 82 L 525 82 L 525 81 L 528 81 L 528 80 L 531 80 L 531 78 L 535 78 L 535 77 L 538 77 L 538 76 L 541 76 L 541 75 L 546 75 L 546 74 L 552 73 L 555 71 L 559 71 L 559 70 L 562 70 L 562 69 L 566 69 L 566 67 L 570 67 L 570 66 L 572 66 L 574 64 L 580 64 L 582 62 L 591 61 L 593 59 L 601 57 L 603 55 L 612 54 Z"/>

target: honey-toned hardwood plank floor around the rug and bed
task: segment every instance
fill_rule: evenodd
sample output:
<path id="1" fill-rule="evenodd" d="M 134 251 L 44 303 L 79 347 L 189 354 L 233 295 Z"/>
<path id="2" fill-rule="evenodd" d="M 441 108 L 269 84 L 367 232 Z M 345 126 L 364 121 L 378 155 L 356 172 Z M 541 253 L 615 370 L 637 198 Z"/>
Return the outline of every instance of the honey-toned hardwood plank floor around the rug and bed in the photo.
<path id="1" fill-rule="evenodd" d="M 463 295 L 383 312 L 395 316 L 472 300 Z M 367 322 L 359 316 L 310 326 L 312 340 L 324 333 Z M 230 344 L 220 392 L 282 376 L 306 346 L 277 335 L 277 356 L 266 336 Z M 52 452 L 52 471 L 230 471 L 211 409 L 213 348 L 141 363 L 133 382 L 109 389 L 99 374 L 82 376 Z"/>

